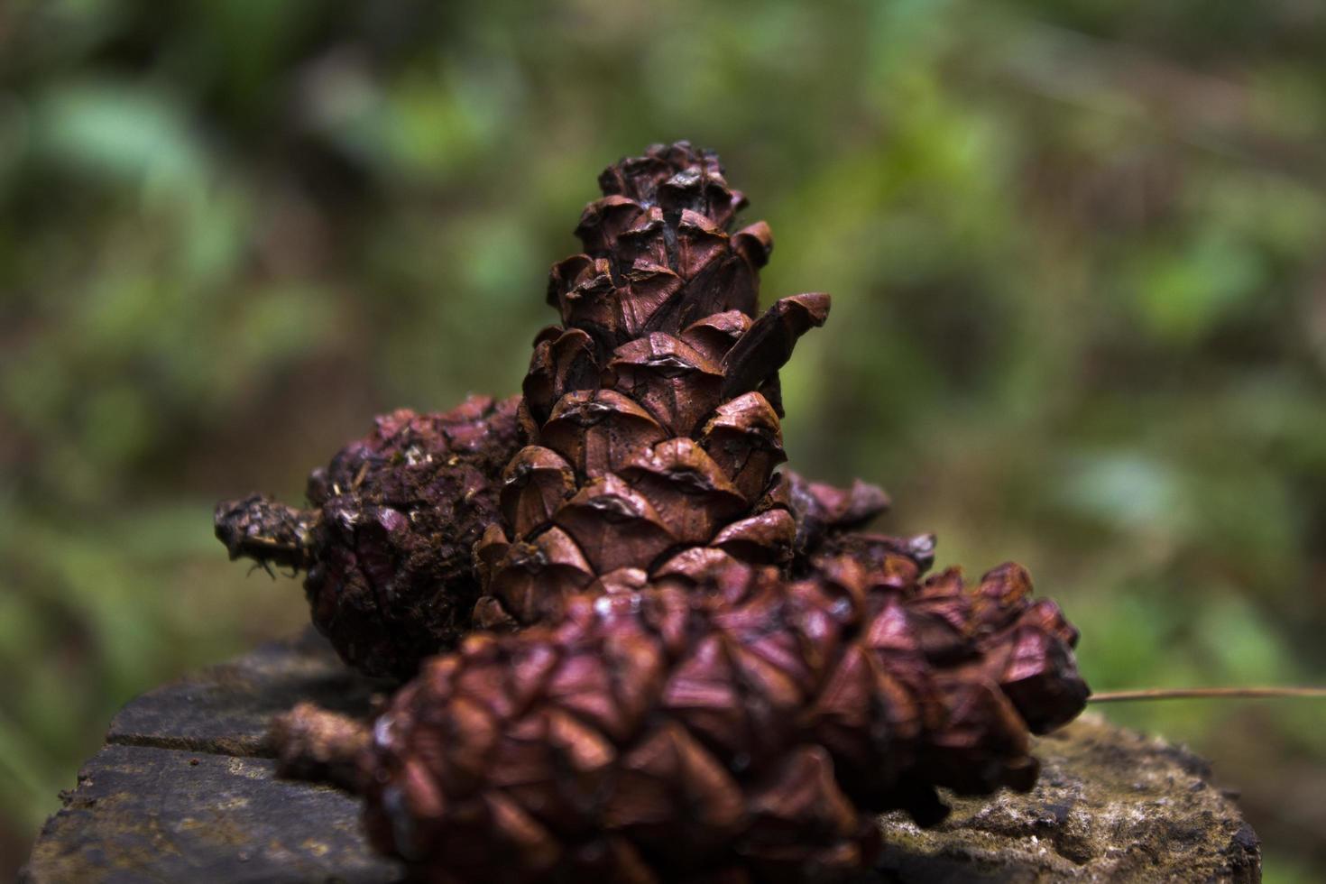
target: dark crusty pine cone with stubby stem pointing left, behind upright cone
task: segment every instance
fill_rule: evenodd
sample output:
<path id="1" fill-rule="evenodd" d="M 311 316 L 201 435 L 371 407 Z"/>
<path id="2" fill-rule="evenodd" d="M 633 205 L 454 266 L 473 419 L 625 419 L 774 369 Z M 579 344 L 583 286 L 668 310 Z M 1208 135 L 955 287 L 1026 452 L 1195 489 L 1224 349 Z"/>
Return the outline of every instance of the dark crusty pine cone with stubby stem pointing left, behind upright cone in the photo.
<path id="1" fill-rule="evenodd" d="M 313 623 L 346 663 L 407 677 L 469 632 L 472 551 L 501 518 L 495 477 L 518 449 L 518 398 L 471 396 L 443 414 L 378 417 L 309 477 L 308 510 L 223 502 L 231 558 L 306 569 Z"/>

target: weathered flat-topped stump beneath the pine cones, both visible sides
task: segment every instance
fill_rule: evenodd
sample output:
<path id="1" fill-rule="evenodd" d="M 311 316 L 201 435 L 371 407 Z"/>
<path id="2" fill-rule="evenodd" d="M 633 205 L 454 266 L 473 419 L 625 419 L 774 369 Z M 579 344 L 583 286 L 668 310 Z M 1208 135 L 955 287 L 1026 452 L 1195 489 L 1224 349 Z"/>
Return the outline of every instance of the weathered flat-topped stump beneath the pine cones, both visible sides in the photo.
<path id="1" fill-rule="evenodd" d="M 48 820 L 23 880 L 385 883 L 357 802 L 276 779 L 267 722 L 300 700 L 363 713 L 389 684 L 317 636 L 271 644 L 134 700 Z M 1041 740 L 1028 795 L 953 802 L 919 830 L 884 816 L 875 881 L 1256 881 L 1257 836 L 1205 762 L 1087 716 Z"/>

